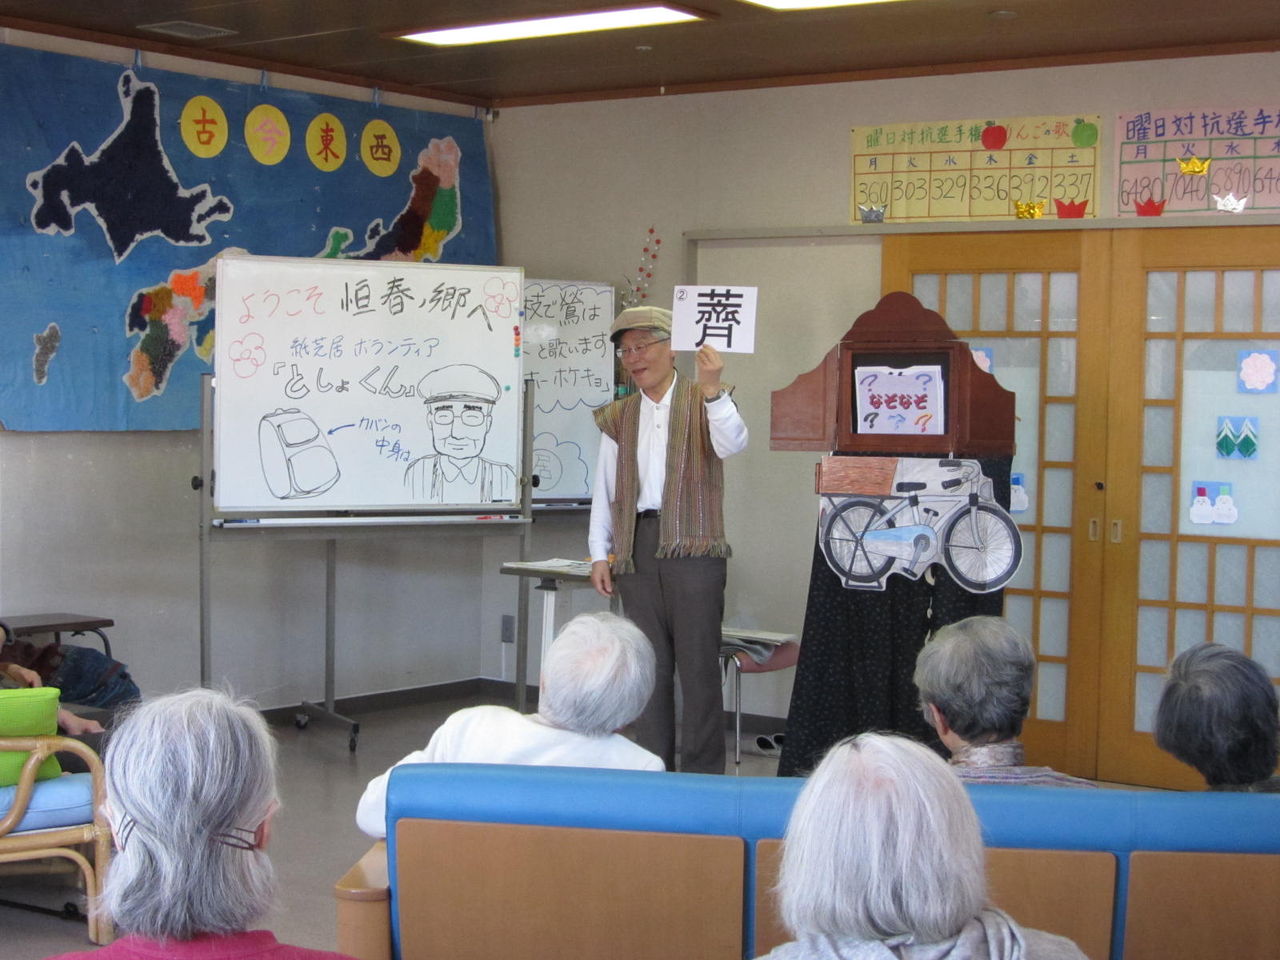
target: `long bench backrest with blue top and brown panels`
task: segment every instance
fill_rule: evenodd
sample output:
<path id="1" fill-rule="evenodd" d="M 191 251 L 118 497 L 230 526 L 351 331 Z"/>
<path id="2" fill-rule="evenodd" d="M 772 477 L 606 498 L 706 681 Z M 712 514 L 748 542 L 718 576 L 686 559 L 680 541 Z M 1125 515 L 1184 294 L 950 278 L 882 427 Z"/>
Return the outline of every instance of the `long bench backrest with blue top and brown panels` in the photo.
<path id="1" fill-rule="evenodd" d="M 777 840 L 801 786 L 791 778 L 632 771 L 397 767 L 388 790 L 388 851 L 399 956 L 431 956 L 425 947 L 404 950 L 406 938 L 434 943 L 451 931 L 458 942 L 451 941 L 442 956 L 477 955 L 465 952 L 462 941 L 474 938 L 486 916 L 490 925 L 502 918 L 512 929 L 504 936 L 526 946 L 539 929 L 554 929 L 557 956 L 572 956 L 562 948 L 566 938 L 580 942 L 585 955 L 621 956 L 618 945 L 627 938 L 666 928 L 678 945 L 675 955 L 714 957 L 735 923 L 735 956 L 764 954 L 786 940 L 767 893 L 777 876 Z M 1225 887 L 1201 882 L 1199 868 L 1181 859 L 1170 860 L 1167 869 L 1149 868 L 1146 858 L 1153 854 L 1262 855 L 1248 883 L 1258 902 L 1280 902 L 1280 797 L 987 785 L 969 787 L 969 795 L 989 851 L 992 901 L 1028 927 L 1075 940 L 1091 957 L 1108 956 L 1108 940 L 1114 960 L 1160 955 L 1158 945 L 1190 942 L 1192 934 L 1180 931 L 1203 929 L 1220 910 L 1215 891 Z M 451 837 L 435 836 L 440 831 Z M 663 852 L 643 854 L 641 847 Z M 714 879 L 699 872 L 699 863 L 708 864 Z M 1161 886 L 1164 874 L 1178 874 L 1179 883 L 1198 892 Z M 726 895 L 723 902 L 710 887 Z M 1231 882 L 1233 897 L 1238 887 Z M 552 902 L 547 893 L 554 888 L 572 893 Z M 628 902 L 658 892 L 672 896 L 648 910 Z M 1172 900 L 1178 896 L 1192 896 L 1197 905 Z M 453 906 L 433 914 L 428 901 L 438 897 Z M 735 897 L 736 905 L 727 902 Z M 1160 914 L 1167 902 L 1183 906 Z M 1258 910 L 1245 905 L 1243 913 L 1254 916 Z M 714 924 L 707 923 L 709 914 Z M 1271 906 L 1265 914 L 1271 925 L 1260 927 L 1257 919 L 1210 923 L 1219 931 L 1208 934 L 1216 946 L 1231 945 L 1211 952 L 1253 956 L 1263 950 L 1270 956 L 1280 942 L 1280 911 Z M 553 920 L 539 927 L 540 916 Z M 681 925 L 686 922 L 692 928 Z M 570 932 L 577 927 L 586 929 Z M 707 945 L 692 950 L 691 937 L 703 933 Z M 600 936 L 608 950 L 593 940 Z M 1157 945 L 1155 952 L 1148 942 Z M 488 955 L 536 954 L 494 946 Z"/>

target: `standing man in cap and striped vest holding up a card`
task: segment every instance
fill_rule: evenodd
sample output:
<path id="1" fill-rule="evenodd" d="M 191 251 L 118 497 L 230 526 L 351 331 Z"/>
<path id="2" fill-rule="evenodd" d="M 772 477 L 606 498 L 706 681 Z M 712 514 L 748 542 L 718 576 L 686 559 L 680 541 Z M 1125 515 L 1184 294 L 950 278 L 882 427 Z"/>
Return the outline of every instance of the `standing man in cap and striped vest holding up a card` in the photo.
<path id="1" fill-rule="evenodd" d="M 746 449 L 746 424 L 721 383 L 724 362 L 713 347 L 695 355 L 696 379 L 676 375 L 671 311 L 630 307 L 609 335 L 636 392 L 595 411 L 591 582 L 604 596 L 617 588 L 658 657 L 636 739 L 675 769 L 678 673 L 680 767 L 723 773 L 719 643 L 730 548 L 721 461 Z"/>

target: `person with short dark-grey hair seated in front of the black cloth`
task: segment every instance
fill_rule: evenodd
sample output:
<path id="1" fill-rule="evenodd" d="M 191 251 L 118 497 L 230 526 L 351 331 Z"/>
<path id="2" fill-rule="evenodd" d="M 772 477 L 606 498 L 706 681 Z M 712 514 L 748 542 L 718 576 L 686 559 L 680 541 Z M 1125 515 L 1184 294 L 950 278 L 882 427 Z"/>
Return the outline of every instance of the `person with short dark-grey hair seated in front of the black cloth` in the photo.
<path id="1" fill-rule="evenodd" d="M 1004 617 L 969 617 L 938 630 L 915 658 L 924 719 L 968 783 L 1092 787 L 1048 767 L 1023 765 L 1018 741 L 1032 703 L 1036 654 Z"/>

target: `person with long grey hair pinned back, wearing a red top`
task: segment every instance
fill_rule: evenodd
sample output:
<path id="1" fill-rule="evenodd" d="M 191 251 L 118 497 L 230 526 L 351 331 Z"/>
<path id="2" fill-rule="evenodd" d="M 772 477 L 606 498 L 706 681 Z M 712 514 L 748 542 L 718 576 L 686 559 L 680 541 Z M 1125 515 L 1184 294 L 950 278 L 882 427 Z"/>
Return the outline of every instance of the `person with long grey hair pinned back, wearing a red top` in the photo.
<path id="1" fill-rule="evenodd" d="M 349 960 L 251 929 L 271 908 L 279 799 L 275 741 L 250 704 L 216 690 L 148 699 L 104 765 L 116 852 L 93 909 L 124 936 L 54 960 Z"/>

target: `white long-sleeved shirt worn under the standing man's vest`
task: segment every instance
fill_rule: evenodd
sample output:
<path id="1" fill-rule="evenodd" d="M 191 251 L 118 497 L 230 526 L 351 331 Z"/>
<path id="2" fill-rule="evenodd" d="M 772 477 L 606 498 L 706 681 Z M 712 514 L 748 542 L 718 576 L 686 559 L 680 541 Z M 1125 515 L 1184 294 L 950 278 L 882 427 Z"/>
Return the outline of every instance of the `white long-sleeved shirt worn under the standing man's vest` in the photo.
<path id="1" fill-rule="evenodd" d="M 636 511 L 662 509 L 662 488 L 667 476 L 667 443 L 671 426 L 671 397 L 676 379 L 660 401 L 640 394 L 640 430 L 636 436 L 636 466 L 640 471 L 640 490 Z M 746 422 L 737 404 L 728 394 L 707 403 L 707 428 L 712 435 L 712 448 L 721 460 L 746 449 Z M 613 547 L 613 512 L 609 504 L 617 489 L 618 444 L 600 434 L 600 453 L 595 461 L 595 486 L 591 490 L 591 525 L 588 547 L 591 561 L 609 558 Z"/>

